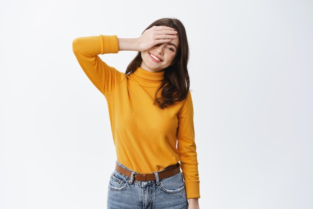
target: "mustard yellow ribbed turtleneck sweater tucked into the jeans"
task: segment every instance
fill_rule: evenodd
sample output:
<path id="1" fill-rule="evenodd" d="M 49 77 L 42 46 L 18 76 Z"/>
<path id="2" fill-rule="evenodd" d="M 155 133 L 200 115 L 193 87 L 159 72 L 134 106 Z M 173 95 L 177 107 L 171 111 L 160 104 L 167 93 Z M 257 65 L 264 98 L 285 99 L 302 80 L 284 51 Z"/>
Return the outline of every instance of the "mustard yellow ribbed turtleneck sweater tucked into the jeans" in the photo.
<path id="1" fill-rule="evenodd" d="M 118 52 L 116 35 L 76 38 L 73 51 L 106 98 L 117 160 L 140 173 L 180 161 L 187 198 L 199 198 L 190 92 L 185 100 L 160 109 L 154 103 L 154 94 L 164 71 L 149 72 L 139 67 L 125 75 L 99 58 L 98 54 Z"/>

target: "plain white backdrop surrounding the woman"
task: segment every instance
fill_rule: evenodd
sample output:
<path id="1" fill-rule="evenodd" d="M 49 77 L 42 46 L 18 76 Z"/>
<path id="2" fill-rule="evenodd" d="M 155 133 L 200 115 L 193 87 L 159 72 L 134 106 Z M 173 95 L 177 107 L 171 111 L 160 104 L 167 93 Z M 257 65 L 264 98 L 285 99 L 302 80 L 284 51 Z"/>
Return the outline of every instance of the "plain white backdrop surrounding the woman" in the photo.
<path id="1" fill-rule="evenodd" d="M 311 0 L 0 1 L 0 208 L 105 208 L 115 163 L 78 36 L 185 25 L 201 208 L 313 208 Z M 124 71 L 135 52 L 102 55 Z"/>

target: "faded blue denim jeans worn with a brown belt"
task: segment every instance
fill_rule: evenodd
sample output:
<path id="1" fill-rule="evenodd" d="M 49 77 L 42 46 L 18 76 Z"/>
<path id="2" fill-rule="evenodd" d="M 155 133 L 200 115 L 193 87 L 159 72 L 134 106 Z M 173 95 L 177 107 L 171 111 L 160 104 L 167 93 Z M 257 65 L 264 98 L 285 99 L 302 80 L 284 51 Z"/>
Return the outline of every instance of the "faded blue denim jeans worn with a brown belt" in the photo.
<path id="1" fill-rule="evenodd" d="M 107 209 L 186 209 L 188 201 L 181 172 L 161 180 L 154 174 L 156 180 L 136 181 L 114 170 L 108 185 Z"/>

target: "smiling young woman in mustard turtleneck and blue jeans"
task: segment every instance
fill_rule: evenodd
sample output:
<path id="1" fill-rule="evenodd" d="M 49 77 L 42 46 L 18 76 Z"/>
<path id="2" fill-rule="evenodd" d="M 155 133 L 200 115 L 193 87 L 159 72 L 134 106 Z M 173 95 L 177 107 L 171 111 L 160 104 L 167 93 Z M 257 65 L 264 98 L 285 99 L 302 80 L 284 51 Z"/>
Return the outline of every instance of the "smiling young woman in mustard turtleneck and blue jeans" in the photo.
<path id="1" fill-rule="evenodd" d="M 119 50 L 138 51 L 125 73 L 98 56 Z M 107 100 L 117 156 L 107 208 L 198 208 L 189 52 L 183 24 L 162 18 L 137 38 L 79 37 L 73 41 L 73 51 Z"/>

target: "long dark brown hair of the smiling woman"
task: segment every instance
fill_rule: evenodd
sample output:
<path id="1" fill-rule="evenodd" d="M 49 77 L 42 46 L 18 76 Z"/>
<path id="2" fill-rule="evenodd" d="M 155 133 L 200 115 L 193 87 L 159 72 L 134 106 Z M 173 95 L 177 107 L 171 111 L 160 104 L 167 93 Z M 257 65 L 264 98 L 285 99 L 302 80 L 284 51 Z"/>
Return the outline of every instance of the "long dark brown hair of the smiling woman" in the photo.
<path id="1" fill-rule="evenodd" d="M 152 22 L 146 29 L 153 25 L 169 26 L 177 31 L 179 38 L 179 46 L 177 49 L 175 62 L 173 65 L 164 69 L 164 79 L 155 92 L 155 102 L 160 108 L 165 108 L 168 105 L 181 101 L 186 98 L 189 91 L 189 74 L 187 63 L 189 59 L 189 47 L 185 28 L 181 21 L 174 18 L 161 18 Z M 145 30 L 146 30 L 145 29 Z M 141 52 L 132 59 L 126 68 L 126 74 L 134 72 L 141 64 Z M 157 97 L 157 92 L 161 90 L 160 97 Z"/>

